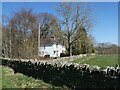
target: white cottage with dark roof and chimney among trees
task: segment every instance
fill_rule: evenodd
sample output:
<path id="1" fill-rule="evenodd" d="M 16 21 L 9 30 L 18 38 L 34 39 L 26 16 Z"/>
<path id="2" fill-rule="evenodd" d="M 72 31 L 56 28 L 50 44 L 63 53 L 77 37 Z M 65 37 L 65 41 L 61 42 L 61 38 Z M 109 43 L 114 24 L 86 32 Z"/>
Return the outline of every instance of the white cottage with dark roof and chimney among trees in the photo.
<path id="1" fill-rule="evenodd" d="M 61 53 L 65 52 L 65 46 L 58 43 L 54 38 L 49 38 L 41 42 L 41 46 L 39 48 L 40 56 L 44 57 L 45 55 L 49 55 L 50 57 L 60 57 Z"/>

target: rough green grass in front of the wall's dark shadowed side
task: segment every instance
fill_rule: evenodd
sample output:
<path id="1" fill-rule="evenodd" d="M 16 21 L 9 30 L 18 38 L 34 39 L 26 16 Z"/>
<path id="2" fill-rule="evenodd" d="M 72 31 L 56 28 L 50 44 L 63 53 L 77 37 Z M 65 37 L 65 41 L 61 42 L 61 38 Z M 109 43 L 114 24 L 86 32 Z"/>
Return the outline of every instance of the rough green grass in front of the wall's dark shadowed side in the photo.
<path id="1" fill-rule="evenodd" d="M 0 66 L 2 68 L 2 88 L 57 88 L 63 90 L 62 87 L 53 86 L 51 84 L 45 83 L 42 80 L 34 79 L 32 77 L 27 77 L 23 74 L 14 74 L 13 69 L 5 66 Z"/>

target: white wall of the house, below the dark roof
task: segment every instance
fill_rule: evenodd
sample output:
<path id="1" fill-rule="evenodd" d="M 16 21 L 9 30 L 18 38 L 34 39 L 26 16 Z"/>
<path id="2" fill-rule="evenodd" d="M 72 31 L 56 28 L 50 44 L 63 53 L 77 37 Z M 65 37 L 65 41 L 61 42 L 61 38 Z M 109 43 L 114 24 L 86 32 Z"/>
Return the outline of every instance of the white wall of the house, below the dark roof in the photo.
<path id="1" fill-rule="evenodd" d="M 45 45 L 39 48 L 40 56 L 50 55 L 50 57 L 60 57 L 65 52 L 65 47 L 60 44 Z"/>

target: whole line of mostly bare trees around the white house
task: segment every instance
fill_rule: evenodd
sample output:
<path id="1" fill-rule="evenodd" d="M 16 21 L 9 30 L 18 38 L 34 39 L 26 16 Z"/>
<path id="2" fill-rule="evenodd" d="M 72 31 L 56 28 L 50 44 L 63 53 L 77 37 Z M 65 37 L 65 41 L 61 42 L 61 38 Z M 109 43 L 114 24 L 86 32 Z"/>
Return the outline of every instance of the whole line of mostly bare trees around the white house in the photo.
<path id="1" fill-rule="evenodd" d="M 93 37 L 89 34 L 93 25 L 89 8 L 84 3 L 60 3 L 56 12 L 59 17 L 48 12 L 34 13 L 33 9 L 21 8 L 11 17 L 3 15 L 2 56 L 38 57 L 39 28 L 40 40 L 54 35 L 66 46 L 69 56 L 94 52 Z"/>

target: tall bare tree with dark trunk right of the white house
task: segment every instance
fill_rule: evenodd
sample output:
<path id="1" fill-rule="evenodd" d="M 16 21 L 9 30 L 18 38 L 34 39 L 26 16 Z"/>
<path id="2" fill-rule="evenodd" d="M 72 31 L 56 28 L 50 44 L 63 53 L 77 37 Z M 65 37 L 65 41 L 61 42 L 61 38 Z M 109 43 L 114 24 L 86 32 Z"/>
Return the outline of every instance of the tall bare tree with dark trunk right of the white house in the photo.
<path id="1" fill-rule="evenodd" d="M 71 46 L 78 40 L 82 30 L 91 28 L 90 10 L 84 8 L 83 3 L 60 3 L 57 8 L 60 19 L 60 28 L 63 30 L 62 35 L 67 40 L 68 53 L 71 55 Z"/>

